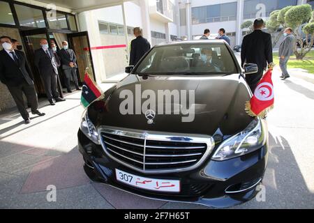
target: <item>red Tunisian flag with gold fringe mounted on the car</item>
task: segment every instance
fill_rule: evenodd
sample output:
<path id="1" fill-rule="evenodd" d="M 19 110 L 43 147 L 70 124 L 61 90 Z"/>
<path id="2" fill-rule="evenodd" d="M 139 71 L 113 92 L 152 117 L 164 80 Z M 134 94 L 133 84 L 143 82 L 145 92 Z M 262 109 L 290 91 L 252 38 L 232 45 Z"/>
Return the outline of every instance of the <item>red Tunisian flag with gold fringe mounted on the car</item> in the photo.
<path id="1" fill-rule="evenodd" d="M 249 116 L 266 116 L 267 112 L 274 107 L 274 84 L 271 81 L 273 67 L 264 74 L 260 83 L 257 84 L 253 98 L 246 102 L 246 113 Z"/>

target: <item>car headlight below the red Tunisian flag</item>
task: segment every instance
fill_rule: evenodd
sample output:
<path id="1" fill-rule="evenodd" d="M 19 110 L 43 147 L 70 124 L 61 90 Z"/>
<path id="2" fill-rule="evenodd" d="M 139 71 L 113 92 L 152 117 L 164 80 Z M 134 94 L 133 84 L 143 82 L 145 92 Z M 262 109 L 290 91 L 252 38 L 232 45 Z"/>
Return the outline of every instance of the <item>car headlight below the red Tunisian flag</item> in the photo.
<path id="1" fill-rule="evenodd" d="M 266 134 L 260 118 L 255 118 L 248 127 L 238 134 L 223 141 L 212 160 L 229 160 L 256 151 L 266 142 Z"/>

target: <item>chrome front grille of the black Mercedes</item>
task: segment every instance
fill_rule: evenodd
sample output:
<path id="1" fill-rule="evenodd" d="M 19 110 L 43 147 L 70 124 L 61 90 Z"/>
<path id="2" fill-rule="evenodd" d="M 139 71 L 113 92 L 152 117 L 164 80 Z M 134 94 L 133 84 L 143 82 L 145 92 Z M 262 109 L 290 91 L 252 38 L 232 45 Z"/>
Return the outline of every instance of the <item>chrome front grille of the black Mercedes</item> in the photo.
<path id="1" fill-rule="evenodd" d="M 140 132 L 103 127 L 99 130 L 105 153 L 143 173 L 187 171 L 202 164 L 214 148 L 209 136 Z"/>

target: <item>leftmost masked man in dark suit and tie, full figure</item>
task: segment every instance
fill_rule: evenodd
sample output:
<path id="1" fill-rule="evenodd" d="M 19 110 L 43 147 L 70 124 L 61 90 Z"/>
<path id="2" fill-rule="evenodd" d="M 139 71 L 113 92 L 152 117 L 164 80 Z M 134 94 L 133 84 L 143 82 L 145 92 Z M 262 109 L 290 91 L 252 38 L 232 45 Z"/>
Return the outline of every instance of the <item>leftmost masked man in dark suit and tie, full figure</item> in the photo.
<path id="1" fill-rule="evenodd" d="M 38 111 L 37 93 L 25 54 L 15 51 L 11 40 L 8 36 L 0 37 L 0 44 L 3 47 L 0 51 L 0 80 L 8 87 L 22 118 L 26 124 L 29 124 L 31 121 L 25 109 L 23 93 L 31 105 L 32 114 L 38 116 L 45 114 Z"/>

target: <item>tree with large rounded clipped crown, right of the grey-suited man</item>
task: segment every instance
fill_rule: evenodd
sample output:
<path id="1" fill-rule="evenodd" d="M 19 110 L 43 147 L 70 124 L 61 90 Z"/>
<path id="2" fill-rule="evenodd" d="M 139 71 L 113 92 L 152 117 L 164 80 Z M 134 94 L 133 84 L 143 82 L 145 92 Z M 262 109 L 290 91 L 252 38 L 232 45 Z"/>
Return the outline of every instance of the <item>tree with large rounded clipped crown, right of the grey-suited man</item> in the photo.
<path id="1" fill-rule="evenodd" d="M 313 46 L 313 38 L 314 36 L 311 36 L 311 43 L 308 43 L 308 40 L 306 40 L 306 45 L 304 47 L 303 38 L 301 30 L 305 31 L 306 38 L 308 38 L 308 34 L 312 34 L 313 30 L 313 22 L 308 23 L 308 21 L 313 18 L 313 12 L 312 7 L 308 4 L 300 5 L 300 6 L 292 6 L 287 12 L 285 13 L 285 26 L 291 27 L 294 31 L 294 35 L 297 38 L 297 43 L 300 43 L 300 49 L 297 47 L 297 43 L 294 47 L 294 54 L 297 59 L 304 59 L 304 56 L 310 52 L 312 46 Z M 308 23 L 308 24 L 306 24 Z M 304 26 L 303 29 L 301 27 Z"/>

